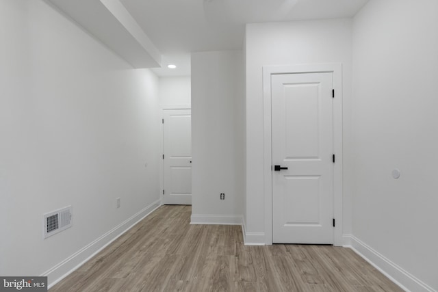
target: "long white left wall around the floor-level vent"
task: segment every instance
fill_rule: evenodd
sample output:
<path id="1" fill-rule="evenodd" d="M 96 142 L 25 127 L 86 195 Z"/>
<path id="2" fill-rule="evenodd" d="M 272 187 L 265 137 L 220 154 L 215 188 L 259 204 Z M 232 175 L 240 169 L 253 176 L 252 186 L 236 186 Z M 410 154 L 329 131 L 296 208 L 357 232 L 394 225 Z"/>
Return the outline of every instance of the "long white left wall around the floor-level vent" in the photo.
<path id="1" fill-rule="evenodd" d="M 0 274 L 40 275 L 159 199 L 158 79 L 44 1 L 0 1 L 0 39 Z"/>

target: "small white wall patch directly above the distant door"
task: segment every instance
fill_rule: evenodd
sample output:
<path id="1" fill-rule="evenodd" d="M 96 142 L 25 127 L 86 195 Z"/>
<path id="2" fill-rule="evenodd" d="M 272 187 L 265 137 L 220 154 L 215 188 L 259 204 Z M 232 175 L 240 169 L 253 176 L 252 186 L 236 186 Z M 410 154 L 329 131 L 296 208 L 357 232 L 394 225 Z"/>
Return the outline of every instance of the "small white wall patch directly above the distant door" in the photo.
<path id="1" fill-rule="evenodd" d="M 161 107 L 190 106 L 191 98 L 190 76 L 159 77 L 159 105 Z"/>

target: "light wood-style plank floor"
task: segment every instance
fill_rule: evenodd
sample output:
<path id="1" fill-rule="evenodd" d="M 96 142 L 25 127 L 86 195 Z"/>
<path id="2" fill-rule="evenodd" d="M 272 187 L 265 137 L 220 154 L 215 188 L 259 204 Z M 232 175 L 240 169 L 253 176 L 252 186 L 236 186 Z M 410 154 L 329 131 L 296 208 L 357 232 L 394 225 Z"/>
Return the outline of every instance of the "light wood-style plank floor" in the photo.
<path id="1" fill-rule="evenodd" d="M 245 246 L 190 213 L 159 207 L 50 291 L 402 291 L 348 248 Z"/>

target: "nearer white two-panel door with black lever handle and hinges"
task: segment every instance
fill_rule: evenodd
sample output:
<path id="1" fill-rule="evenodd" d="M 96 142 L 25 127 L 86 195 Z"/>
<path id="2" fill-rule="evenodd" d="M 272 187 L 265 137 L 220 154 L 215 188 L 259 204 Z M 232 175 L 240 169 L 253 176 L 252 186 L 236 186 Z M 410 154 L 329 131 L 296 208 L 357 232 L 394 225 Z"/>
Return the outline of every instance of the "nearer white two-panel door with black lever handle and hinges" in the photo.
<path id="1" fill-rule="evenodd" d="M 272 240 L 333 244 L 333 73 L 272 75 L 271 88 Z"/>

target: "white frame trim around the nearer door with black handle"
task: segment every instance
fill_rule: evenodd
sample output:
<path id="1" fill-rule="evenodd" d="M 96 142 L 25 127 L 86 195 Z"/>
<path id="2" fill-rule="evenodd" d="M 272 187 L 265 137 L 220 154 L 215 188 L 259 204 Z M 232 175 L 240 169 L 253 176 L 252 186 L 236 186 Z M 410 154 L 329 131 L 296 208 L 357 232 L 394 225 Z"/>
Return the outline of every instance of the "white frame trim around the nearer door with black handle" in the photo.
<path id="1" fill-rule="evenodd" d="M 272 125 L 271 75 L 287 73 L 332 72 L 333 99 L 333 245 L 342 246 L 342 64 L 301 64 L 263 66 L 263 177 L 265 198 L 265 244 L 272 244 Z"/>

